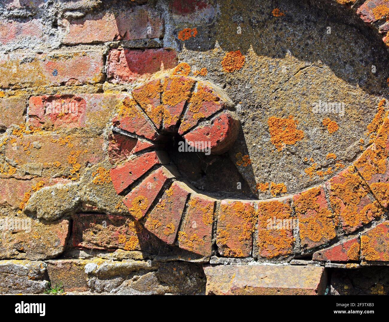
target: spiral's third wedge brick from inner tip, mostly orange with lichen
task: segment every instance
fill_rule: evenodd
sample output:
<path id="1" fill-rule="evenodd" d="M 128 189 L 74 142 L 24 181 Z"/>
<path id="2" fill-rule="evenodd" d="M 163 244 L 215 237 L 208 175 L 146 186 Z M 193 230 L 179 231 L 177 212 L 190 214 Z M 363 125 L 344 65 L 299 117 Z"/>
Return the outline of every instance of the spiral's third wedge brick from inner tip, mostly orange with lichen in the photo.
<path id="1" fill-rule="evenodd" d="M 191 91 L 196 81 L 188 77 L 166 77 L 163 82 L 163 128 L 166 131 L 175 131 L 175 125 L 184 110 L 184 106 L 191 97 Z"/>

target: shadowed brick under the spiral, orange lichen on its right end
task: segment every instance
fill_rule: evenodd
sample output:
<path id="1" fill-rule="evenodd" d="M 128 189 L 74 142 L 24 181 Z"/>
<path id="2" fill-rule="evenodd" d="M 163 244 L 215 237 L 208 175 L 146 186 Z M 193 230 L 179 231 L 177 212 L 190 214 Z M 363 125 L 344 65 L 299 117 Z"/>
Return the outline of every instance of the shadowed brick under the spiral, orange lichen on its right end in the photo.
<path id="1" fill-rule="evenodd" d="M 157 238 L 128 216 L 77 214 L 73 219 L 74 247 L 145 252 L 158 252 L 160 247 Z"/>

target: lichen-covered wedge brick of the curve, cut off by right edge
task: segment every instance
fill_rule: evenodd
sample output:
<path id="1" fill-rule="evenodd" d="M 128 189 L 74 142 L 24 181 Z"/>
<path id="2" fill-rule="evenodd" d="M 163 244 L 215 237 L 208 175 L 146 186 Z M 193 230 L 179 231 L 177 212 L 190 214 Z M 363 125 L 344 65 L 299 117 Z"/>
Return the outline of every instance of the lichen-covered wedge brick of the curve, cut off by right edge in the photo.
<path id="1" fill-rule="evenodd" d="M 354 162 L 380 204 L 389 206 L 389 118 L 385 117 L 374 143 Z"/>

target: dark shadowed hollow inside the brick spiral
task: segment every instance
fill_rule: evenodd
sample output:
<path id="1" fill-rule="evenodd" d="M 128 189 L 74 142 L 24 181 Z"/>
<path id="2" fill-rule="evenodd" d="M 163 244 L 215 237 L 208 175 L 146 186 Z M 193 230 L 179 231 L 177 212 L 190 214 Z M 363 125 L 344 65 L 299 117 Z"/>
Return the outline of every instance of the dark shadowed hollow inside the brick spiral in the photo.
<path id="1" fill-rule="evenodd" d="M 179 147 L 184 143 L 179 134 L 166 138 L 165 143 L 165 151 L 182 179 L 189 181 L 200 192 L 215 197 L 254 198 L 228 153 L 206 155 L 204 152 L 182 151 Z"/>

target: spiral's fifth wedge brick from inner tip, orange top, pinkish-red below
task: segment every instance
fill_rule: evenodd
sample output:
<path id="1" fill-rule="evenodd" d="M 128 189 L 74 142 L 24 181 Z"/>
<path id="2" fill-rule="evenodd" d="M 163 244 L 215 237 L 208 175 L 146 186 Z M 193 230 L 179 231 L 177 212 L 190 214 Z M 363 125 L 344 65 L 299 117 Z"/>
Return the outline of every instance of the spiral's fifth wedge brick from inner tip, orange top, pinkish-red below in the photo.
<path id="1" fill-rule="evenodd" d="M 140 110 L 137 103 L 129 97 L 124 99 L 119 108 L 119 114 L 113 120 L 114 126 L 124 131 L 137 134 L 146 139 L 155 140 L 158 133 Z"/>

